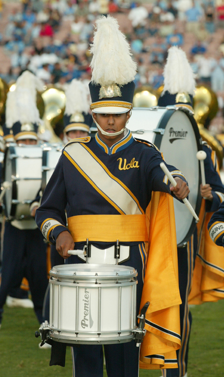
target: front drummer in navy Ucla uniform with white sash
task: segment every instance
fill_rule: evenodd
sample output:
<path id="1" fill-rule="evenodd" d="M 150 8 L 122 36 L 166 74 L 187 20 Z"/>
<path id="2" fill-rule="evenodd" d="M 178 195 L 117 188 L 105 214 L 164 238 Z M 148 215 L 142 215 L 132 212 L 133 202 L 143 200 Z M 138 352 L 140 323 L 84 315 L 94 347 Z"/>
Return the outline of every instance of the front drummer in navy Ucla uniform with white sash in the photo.
<path id="1" fill-rule="evenodd" d="M 69 258 L 68 251 L 83 249 L 89 238 L 93 240 L 90 262 L 101 260 L 107 249 L 106 263 L 115 264 L 114 240 L 119 240 L 119 263 L 138 271 L 138 312 L 146 258 L 144 213 L 152 191 L 163 191 L 181 200 L 187 197 L 189 188 L 183 173 L 167 165 L 177 182 L 176 188 L 170 186 L 160 169 L 163 161 L 160 152 L 150 143 L 136 141 L 126 128 L 131 115 L 136 64 L 111 16 L 97 20 L 91 50 L 89 87 L 98 133 L 95 138 L 87 136 L 67 143 L 44 190 L 36 222 L 67 263 L 83 263 L 77 256 Z M 170 197 L 164 195 L 166 199 Z M 164 230 L 168 225 L 166 221 L 161 223 Z M 161 233 L 166 246 L 167 236 L 167 232 Z M 104 350 L 109 377 L 138 376 L 139 350 L 133 341 L 104 345 Z M 103 377 L 101 345 L 74 346 L 72 355 L 76 377 Z"/>

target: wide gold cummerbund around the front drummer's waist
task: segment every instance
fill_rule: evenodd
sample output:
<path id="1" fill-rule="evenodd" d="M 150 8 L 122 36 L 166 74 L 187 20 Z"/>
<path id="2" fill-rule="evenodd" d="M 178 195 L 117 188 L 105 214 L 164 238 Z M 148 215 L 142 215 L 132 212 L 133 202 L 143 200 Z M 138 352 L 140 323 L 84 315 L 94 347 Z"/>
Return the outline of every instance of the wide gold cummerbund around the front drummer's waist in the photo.
<path id="1" fill-rule="evenodd" d="M 68 217 L 74 242 L 142 242 L 148 240 L 145 215 L 80 215 Z"/>

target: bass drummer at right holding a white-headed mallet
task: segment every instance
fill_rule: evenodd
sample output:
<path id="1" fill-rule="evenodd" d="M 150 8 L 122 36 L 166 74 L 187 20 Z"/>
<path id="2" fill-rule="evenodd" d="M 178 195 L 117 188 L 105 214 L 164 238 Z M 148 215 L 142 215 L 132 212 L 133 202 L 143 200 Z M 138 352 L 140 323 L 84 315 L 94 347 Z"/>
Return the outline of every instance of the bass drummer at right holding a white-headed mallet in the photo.
<path id="1" fill-rule="evenodd" d="M 193 94 L 195 91 L 195 79 L 192 68 L 187 60 L 185 52 L 176 46 L 168 50 L 167 63 L 164 68 L 164 90 L 158 100 L 159 106 L 184 106 L 193 111 Z M 201 224 L 206 212 L 216 211 L 220 202 L 224 200 L 224 187 L 217 172 L 215 152 L 203 142 L 203 150 L 207 157 L 204 160 L 206 185 L 200 187 L 201 196 L 204 198 L 200 212 Z M 203 236 L 204 237 L 204 236 Z M 166 369 L 164 377 L 187 377 L 188 346 L 190 339 L 192 316 L 189 310 L 188 297 L 192 287 L 193 270 L 198 244 L 197 228 L 185 247 L 178 248 L 179 287 L 182 304 L 180 305 L 181 320 L 181 348 L 177 351 L 178 368 Z"/>

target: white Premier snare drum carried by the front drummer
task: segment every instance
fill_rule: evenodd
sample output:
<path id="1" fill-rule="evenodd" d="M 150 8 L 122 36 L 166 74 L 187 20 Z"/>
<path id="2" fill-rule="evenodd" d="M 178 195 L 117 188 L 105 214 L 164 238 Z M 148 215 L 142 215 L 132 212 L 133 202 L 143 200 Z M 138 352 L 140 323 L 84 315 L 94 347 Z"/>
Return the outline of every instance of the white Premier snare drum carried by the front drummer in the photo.
<path id="1" fill-rule="evenodd" d="M 50 276 L 51 339 L 74 344 L 115 344 L 133 339 L 135 269 L 71 264 L 53 267 Z"/>

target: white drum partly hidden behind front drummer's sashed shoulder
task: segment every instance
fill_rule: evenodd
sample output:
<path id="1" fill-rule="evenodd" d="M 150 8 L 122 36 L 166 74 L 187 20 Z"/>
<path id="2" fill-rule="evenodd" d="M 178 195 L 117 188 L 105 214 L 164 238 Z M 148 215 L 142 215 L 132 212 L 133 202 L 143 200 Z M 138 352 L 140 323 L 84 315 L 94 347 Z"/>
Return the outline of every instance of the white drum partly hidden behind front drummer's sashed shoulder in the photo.
<path id="1" fill-rule="evenodd" d="M 61 157 L 63 146 L 62 144 L 49 144 L 43 148 L 43 159 L 42 159 L 42 185 L 41 189 L 44 191 L 51 178 L 54 169 Z"/>

